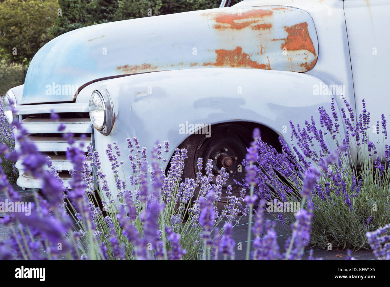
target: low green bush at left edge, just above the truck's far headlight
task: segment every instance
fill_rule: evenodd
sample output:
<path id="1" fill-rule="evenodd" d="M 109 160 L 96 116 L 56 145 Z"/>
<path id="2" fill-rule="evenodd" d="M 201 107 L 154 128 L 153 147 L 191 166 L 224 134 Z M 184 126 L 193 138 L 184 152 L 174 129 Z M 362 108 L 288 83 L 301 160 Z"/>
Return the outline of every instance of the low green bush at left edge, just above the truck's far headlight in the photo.
<path id="1" fill-rule="evenodd" d="M 27 65 L 0 60 L 0 95 L 4 95 L 12 87 L 23 84 L 26 72 Z"/>

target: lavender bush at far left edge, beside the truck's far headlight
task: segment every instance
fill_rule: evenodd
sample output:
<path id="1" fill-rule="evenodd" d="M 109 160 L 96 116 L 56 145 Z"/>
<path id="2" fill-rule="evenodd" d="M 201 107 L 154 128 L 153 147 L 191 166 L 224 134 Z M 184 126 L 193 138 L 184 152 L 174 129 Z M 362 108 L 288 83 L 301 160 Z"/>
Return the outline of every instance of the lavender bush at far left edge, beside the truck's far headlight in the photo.
<path id="1" fill-rule="evenodd" d="M 11 126 L 4 116 L 2 98 L 0 98 L 0 144 L 7 146 L 10 150 L 13 150 L 15 146 L 15 140 Z M 5 159 L 3 154 L 0 154 L 0 159 L 2 160 L 1 166 L 4 170 L 4 173 L 7 175 L 9 182 L 16 182 L 19 173 L 15 168 L 15 162 Z"/>

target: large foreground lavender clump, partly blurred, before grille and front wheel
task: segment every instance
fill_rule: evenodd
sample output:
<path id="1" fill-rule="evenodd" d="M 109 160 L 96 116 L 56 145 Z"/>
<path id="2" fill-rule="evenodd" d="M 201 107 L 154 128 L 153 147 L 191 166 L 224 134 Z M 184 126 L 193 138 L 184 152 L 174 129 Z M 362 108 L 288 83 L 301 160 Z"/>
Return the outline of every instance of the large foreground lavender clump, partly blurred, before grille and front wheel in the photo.
<path id="1" fill-rule="evenodd" d="M 58 119 L 55 114 L 52 117 L 53 120 Z M 24 169 L 42 178 L 43 196 L 34 194 L 35 204 L 30 216 L 13 213 L 1 219 L 0 223 L 10 227 L 11 239 L 0 245 L 0 259 L 10 259 L 12 253 L 9 250 L 22 259 L 234 259 L 234 219 L 239 212 L 243 215 L 252 214 L 256 200 L 253 191 L 254 163 L 259 158 L 255 148 L 259 138 L 258 130 L 254 133 L 255 141 L 246 157 L 252 163 L 246 175 L 252 192 L 245 200 L 244 189 L 240 198 L 229 196 L 225 210 L 218 214 L 215 202 L 221 195 L 221 186 L 228 174 L 222 172 L 213 184 L 211 163 L 207 162 L 206 175 L 199 172 L 197 178 L 181 180 L 186 150 L 176 150 L 171 168 L 165 172 L 167 160 L 162 153 L 168 152 L 168 142 L 164 143 L 164 150 L 160 144 L 156 144 L 152 151 L 152 171 L 148 173 L 147 151 L 140 147 L 137 138 L 128 139 L 133 175 L 126 180 L 119 175 L 122 166 L 119 147 L 115 143 L 108 145 L 106 156 L 110 160 L 118 191 L 118 198 L 114 200 L 106 176 L 101 171 L 99 155 L 91 147 L 85 156 L 74 145 L 73 135 L 64 134 L 70 145 L 67 158 L 74 165 L 72 180 L 67 188 L 50 160 L 28 142 L 23 127 L 19 123 L 14 125 L 20 131 L 17 135 L 20 151 L 10 152 L 6 146 L 2 146 L 0 152 L 6 153 L 8 160 L 22 158 Z M 64 128 L 60 125 L 59 129 Z M 335 158 L 337 155 L 329 160 Z M 50 167 L 49 171 L 45 169 L 46 164 Z M 199 160 L 199 170 L 202 164 L 202 160 Z M 2 168 L 0 177 L 0 189 L 5 192 L 7 199 L 21 201 Z M 307 191 L 312 189 L 318 177 L 319 172 L 316 170 L 308 174 L 308 180 L 304 182 L 306 192 L 302 193 L 303 201 L 312 202 L 311 194 Z M 196 186 L 200 187 L 201 192 L 192 203 Z M 103 210 L 94 204 L 99 198 Z M 243 205 L 245 201 L 247 204 Z M 248 242 L 248 259 L 300 259 L 310 238 L 312 204 L 308 207 L 307 210 L 301 210 L 284 253 L 279 253 L 274 226 L 262 227 L 262 207 L 259 207 L 254 226 L 248 230 L 255 235 L 252 251 Z M 226 221 L 225 225 L 218 230 L 216 225 L 222 220 Z M 263 231 L 266 232 L 264 239 L 261 238 Z"/>

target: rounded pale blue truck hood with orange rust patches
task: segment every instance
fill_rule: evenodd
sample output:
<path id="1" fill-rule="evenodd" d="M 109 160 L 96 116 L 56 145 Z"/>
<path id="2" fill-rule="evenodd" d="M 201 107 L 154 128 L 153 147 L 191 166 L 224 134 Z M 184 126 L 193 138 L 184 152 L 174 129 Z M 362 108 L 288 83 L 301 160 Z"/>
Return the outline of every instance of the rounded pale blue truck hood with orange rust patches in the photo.
<path id="1" fill-rule="evenodd" d="M 189 68 L 305 72 L 317 61 L 310 15 L 287 6 L 227 7 L 105 23 L 44 45 L 18 104 L 74 101 L 88 83 Z"/>

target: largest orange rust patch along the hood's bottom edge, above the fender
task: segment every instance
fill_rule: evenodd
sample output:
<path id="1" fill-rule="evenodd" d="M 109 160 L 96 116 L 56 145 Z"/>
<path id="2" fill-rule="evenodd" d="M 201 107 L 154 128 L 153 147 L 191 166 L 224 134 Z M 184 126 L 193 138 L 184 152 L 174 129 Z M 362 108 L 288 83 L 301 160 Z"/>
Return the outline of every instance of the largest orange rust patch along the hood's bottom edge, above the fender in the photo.
<path id="1" fill-rule="evenodd" d="M 234 50 L 225 50 L 225 49 L 218 49 L 215 50 L 216 61 L 204 63 L 203 66 L 217 66 L 217 67 L 223 67 L 223 66 L 230 66 L 230 67 L 241 67 L 241 68 L 255 68 L 255 69 L 262 69 L 265 70 L 269 68 L 266 64 L 260 64 L 256 61 L 253 61 L 250 58 L 250 55 L 243 52 L 243 48 L 238 46 Z"/>

